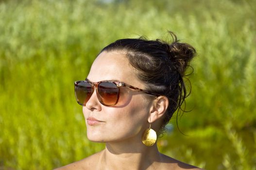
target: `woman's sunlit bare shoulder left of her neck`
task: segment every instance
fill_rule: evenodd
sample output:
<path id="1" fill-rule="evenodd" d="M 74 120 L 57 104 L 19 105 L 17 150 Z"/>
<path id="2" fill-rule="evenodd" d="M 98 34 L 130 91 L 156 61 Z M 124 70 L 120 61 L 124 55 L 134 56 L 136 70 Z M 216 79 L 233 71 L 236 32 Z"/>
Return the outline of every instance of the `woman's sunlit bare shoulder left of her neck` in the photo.
<path id="1" fill-rule="evenodd" d="M 101 153 L 102 151 L 54 170 L 93 170 L 97 166 L 98 161 L 96 160 L 99 160 Z"/>

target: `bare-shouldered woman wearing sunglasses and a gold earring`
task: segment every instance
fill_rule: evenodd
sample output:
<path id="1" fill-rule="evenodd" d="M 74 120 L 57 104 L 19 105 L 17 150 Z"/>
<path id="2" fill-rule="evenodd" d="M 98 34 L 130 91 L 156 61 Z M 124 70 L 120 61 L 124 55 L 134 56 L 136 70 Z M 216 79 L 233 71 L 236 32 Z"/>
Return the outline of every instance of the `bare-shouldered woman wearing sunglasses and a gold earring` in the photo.
<path id="1" fill-rule="evenodd" d="M 75 82 L 87 137 L 103 151 L 58 170 L 200 170 L 155 144 L 187 97 L 183 82 L 195 49 L 178 42 L 120 39 L 106 46 L 85 81 Z M 157 134 L 157 135 L 156 135 Z"/>

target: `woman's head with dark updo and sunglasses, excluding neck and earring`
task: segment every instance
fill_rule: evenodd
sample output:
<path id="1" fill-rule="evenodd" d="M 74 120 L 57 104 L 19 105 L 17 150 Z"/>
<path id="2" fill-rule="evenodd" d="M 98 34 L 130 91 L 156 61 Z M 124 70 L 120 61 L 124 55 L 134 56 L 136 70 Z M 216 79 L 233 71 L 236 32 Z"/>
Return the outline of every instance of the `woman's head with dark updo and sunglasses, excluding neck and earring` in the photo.
<path id="1" fill-rule="evenodd" d="M 90 140 L 140 141 L 149 122 L 154 122 L 154 130 L 163 129 L 175 110 L 180 109 L 187 97 L 183 77 L 195 50 L 179 43 L 174 34 L 171 36 L 171 44 L 158 39 L 120 39 L 100 52 L 87 81 L 76 84 L 76 97 L 84 106 Z M 108 84 L 100 84 L 102 81 Z M 101 101 L 111 96 L 114 102 Z"/>

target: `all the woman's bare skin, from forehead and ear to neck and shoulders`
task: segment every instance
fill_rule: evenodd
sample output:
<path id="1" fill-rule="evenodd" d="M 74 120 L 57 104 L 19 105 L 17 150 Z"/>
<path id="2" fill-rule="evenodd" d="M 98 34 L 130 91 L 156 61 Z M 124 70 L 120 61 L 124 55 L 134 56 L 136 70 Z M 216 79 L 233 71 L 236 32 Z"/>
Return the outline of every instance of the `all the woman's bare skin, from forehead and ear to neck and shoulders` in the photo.
<path id="1" fill-rule="evenodd" d="M 124 51 L 103 51 L 94 61 L 87 79 L 91 82 L 118 80 L 145 89 L 124 57 Z M 94 91 L 83 106 L 87 137 L 106 143 L 106 147 L 56 170 L 201 170 L 159 153 L 156 144 L 148 147 L 141 142 L 149 122 L 152 129 L 159 130 L 168 104 L 164 96 L 150 98 L 140 91 L 121 87 L 118 104 L 104 106 Z M 88 123 L 90 118 L 99 122 Z"/>

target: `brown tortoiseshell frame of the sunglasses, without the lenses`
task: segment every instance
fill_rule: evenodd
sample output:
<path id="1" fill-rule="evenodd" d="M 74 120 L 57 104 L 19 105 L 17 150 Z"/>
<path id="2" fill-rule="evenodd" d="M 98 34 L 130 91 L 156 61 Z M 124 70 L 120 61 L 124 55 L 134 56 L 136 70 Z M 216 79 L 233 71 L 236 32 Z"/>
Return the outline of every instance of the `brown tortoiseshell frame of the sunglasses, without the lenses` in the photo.
<path id="1" fill-rule="evenodd" d="M 92 94 L 94 93 L 94 90 L 96 89 L 97 98 L 98 98 L 99 102 L 100 102 L 102 105 L 104 105 L 104 106 L 113 106 L 113 105 L 116 105 L 116 104 L 118 103 L 118 101 L 119 101 L 119 95 L 120 95 L 120 87 L 121 87 L 121 86 L 128 87 L 128 88 L 131 88 L 131 89 L 137 90 L 137 91 L 142 91 L 142 92 L 144 92 L 144 93 L 146 93 L 146 94 L 148 94 L 148 95 L 157 96 L 157 97 L 160 96 L 159 94 L 156 94 L 156 93 L 153 93 L 153 92 L 150 92 L 150 91 L 147 91 L 147 90 L 143 90 L 143 89 L 141 89 L 141 88 L 138 88 L 138 87 L 135 87 L 135 86 L 132 86 L 132 85 L 128 85 L 128 84 L 126 84 L 126 83 L 119 82 L 119 81 L 116 81 L 116 80 L 104 80 L 104 81 L 100 81 L 100 82 L 90 82 L 90 81 L 88 81 L 87 79 L 85 79 L 85 80 L 81 80 L 81 81 L 76 81 L 76 82 L 74 83 L 74 85 L 75 85 L 75 98 L 76 98 L 76 102 L 77 102 L 78 104 L 82 105 L 82 106 L 85 106 L 85 104 L 80 103 L 80 102 L 78 101 L 77 97 L 76 97 L 76 86 L 77 86 L 79 83 L 89 83 L 89 84 L 91 85 L 91 88 L 93 88 Z M 115 85 L 117 86 L 117 88 L 118 88 L 118 97 L 117 97 L 117 101 L 116 101 L 114 104 L 105 104 L 105 103 L 101 102 L 101 97 L 100 97 L 100 95 L 99 95 L 99 93 L 98 93 L 98 86 L 99 86 L 99 84 L 101 84 L 101 83 L 113 83 L 113 84 L 115 84 Z M 90 97 L 91 97 L 91 96 L 90 96 Z"/>

